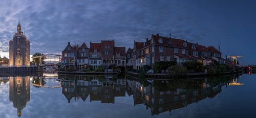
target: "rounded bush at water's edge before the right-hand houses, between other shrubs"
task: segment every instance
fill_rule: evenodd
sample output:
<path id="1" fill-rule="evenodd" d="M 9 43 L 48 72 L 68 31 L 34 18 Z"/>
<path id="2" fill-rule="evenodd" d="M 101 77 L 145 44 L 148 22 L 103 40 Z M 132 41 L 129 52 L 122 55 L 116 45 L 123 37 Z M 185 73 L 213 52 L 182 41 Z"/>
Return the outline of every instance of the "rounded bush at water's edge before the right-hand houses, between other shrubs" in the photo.
<path id="1" fill-rule="evenodd" d="M 184 75 L 184 74 L 188 73 L 187 68 L 184 66 L 180 66 L 180 65 L 168 67 L 167 72 L 169 74 L 174 74 L 174 75 Z"/>

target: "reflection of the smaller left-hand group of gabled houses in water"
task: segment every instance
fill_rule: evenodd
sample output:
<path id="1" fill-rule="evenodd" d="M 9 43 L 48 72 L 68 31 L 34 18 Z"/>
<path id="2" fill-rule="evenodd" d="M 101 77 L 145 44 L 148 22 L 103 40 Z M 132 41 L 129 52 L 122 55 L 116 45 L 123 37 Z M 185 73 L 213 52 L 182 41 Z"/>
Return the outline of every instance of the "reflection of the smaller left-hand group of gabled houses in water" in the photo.
<path id="1" fill-rule="evenodd" d="M 114 78 L 114 76 L 65 76 L 61 79 L 62 94 L 68 103 L 86 99 L 90 96 L 90 102 L 101 103 L 115 102 L 115 97 L 125 97 L 125 78 Z"/>

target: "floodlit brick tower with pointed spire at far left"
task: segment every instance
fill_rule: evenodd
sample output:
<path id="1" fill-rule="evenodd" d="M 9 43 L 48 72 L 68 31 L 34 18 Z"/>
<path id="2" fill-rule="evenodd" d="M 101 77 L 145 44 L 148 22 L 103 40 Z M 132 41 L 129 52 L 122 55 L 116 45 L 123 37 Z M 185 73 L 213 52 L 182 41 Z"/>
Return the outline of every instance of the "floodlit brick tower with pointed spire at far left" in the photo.
<path id="1" fill-rule="evenodd" d="M 30 65 L 30 42 L 23 34 L 19 22 L 17 32 L 9 41 L 9 57 L 11 66 Z"/>

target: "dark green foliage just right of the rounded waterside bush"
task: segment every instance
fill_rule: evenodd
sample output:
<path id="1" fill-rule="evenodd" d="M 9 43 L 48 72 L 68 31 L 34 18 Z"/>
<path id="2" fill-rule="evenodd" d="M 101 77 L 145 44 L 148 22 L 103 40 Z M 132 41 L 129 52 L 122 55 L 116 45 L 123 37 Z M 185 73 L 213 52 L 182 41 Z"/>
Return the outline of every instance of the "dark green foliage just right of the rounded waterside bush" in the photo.
<path id="1" fill-rule="evenodd" d="M 195 73 L 203 72 L 203 64 L 197 61 L 186 61 L 182 63 L 188 70 L 193 71 Z"/>

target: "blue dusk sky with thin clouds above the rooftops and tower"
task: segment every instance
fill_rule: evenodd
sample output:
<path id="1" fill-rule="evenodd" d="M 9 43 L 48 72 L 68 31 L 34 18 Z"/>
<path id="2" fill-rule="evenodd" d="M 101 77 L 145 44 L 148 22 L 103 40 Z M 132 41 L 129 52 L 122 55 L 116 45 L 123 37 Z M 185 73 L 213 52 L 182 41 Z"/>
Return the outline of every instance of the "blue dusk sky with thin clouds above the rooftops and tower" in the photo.
<path id="1" fill-rule="evenodd" d="M 115 39 L 117 46 L 133 47 L 151 34 L 186 39 L 218 48 L 222 57 L 242 55 L 242 64 L 256 64 L 254 1 L 2 1 L 0 53 L 18 17 L 30 39 L 30 53 L 61 53 L 70 41 L 81 44 Z"/>

